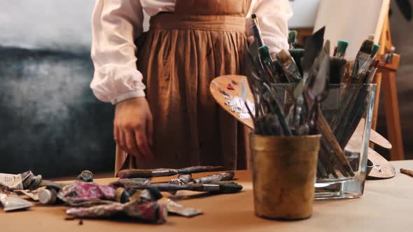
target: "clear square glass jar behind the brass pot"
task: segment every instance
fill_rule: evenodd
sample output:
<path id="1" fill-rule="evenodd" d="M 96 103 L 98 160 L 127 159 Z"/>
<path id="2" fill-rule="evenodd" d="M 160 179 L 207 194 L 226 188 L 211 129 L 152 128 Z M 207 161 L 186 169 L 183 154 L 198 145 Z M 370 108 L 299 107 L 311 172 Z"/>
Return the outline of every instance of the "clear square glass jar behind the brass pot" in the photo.
<path id="1" fill-rule="evenodd" d="M 279 95 L 284 115 L 288 115 L 295 101 L 295 84 L 276 84 L 273 87 Z M 331 140 L 321 133 L 314 198 L 359 197 L 363 195 L 366 178 L 376 85 L 329 85 L 328 89 L 321 103 L 320 117 L 334 134 L 339 149 L 338 146 L 333 149 Z"/>

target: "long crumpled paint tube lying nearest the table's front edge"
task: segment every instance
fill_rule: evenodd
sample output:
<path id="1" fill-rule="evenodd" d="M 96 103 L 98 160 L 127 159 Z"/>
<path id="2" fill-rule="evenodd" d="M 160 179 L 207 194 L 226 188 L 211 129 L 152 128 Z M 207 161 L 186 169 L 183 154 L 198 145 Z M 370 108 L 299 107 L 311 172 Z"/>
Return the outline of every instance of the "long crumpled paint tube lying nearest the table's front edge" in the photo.
<path id="1" fill-rule="evenodd" d="M 163 224 L 167 222 L 168 210 L 165 204 L 156 201 L 130 203 L 112 203 L 97 205 L 90 208 L 71 208 L 66 214 L 80 218 L 109 218 L 125 215 L 143 222 Z"/>

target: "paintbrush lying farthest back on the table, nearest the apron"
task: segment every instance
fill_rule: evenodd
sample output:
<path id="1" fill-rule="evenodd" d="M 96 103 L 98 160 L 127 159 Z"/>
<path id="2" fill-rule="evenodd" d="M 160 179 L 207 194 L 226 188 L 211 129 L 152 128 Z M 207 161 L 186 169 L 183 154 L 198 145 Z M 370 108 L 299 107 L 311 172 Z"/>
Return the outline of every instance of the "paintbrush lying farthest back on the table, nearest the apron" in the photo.
<path id="1" fill-rule="evenodd" d="M 120 178 L 149 178 L 172 176 L 178 174 L 192 174 L 192 173 L 206 173 L 212 171 L 222 171 L 222 166 L 194 166 L 189 168 L 172 169 L 172 168 L 158 168 L 158 169 L 125 169 L 118 173 Z"/>

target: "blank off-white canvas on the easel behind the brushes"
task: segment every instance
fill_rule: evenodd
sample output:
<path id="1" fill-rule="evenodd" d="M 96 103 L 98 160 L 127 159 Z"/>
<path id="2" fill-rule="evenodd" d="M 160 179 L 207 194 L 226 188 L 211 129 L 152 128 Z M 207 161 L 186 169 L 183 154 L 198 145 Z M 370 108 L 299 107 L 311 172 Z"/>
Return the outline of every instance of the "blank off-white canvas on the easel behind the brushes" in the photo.
<path id="1" fill-rule="evenodd" d="M 370 35 L 379 43 L 390 0 L 321 0 L 314 31 L 325 26 L 325 40 L 331 48 L 338 40 L 349 41 L 346 59 L 353 60 L 360 45 Z"/>

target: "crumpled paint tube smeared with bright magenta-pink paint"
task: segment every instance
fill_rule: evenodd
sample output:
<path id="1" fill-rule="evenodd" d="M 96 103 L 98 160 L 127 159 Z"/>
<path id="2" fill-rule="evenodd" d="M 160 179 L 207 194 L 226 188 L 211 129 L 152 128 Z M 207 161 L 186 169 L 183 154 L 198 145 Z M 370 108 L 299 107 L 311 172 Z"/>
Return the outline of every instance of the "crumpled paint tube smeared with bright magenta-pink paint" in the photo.
<path id="1" fill-rule="evenodd" d="M 57 194 L 57 198 L 69 205 L 100 200 L 115 201 L 116 188 L 89 182 L 68 184 Z"/>

